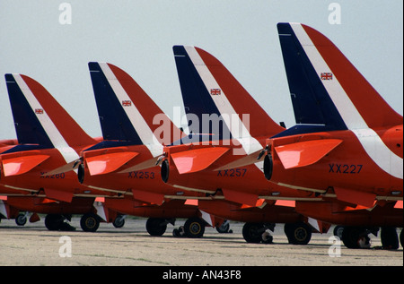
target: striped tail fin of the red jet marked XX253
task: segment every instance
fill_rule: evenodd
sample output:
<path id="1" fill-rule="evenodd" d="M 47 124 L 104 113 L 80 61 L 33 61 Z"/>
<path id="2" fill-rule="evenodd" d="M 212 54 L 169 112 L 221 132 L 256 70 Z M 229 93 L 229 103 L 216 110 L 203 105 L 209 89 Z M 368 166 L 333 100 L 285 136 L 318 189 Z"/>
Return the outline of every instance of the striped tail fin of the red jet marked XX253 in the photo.
<path id="1" fill-rule="evenodd" d="M 98 62 L 89 69 L 105 140 L 155 145 L 161 152 L 161 145 L 181 138 L 180 129 L 126 72 Z"/>

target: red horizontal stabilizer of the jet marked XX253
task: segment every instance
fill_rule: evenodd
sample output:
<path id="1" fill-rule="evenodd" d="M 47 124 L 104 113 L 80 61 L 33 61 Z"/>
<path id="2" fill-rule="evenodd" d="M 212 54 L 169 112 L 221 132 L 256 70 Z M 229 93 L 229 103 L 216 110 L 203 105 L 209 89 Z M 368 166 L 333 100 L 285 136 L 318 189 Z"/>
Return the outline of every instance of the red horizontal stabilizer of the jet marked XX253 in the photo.
<path id="1" fill-rule="evenodd" d="M 125 165 L 130 159 L 135 158 L 137 152 L 117 152 L 104 155 L 98 155 L 86 158 L 90 175 L 103 175 L 117 170 Z"/>

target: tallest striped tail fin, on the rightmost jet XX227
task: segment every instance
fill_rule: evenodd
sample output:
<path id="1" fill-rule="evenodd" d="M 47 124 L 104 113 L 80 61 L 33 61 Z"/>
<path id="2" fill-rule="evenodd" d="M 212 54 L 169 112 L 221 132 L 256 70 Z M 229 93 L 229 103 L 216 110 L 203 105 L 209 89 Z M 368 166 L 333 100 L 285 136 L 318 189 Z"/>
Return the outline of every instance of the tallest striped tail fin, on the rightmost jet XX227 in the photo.
<path id="1" fill-rule="evenodd" d="M 278 23 L 277 30 L 297 124 L 327 130 L 402 124 L 402 116 L 327 37 L 301 23 Z"/>

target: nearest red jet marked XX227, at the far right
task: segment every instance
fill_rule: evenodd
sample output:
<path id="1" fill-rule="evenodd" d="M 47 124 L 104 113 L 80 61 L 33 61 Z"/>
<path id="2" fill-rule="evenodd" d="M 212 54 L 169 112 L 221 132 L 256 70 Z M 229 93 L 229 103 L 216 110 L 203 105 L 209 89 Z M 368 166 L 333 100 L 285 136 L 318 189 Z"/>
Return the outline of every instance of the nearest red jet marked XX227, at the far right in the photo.
<path id="1" fill-rule="evenodd" d="M 265 176 L 328 201 L 296 202 L 296 211 L 345 225 L 348 247 L 382 227 L 383 246 L 398 248 L 402 116 L 319 31 L 300 23 L 277 29 L 297 125 L 268 139 Z"/>

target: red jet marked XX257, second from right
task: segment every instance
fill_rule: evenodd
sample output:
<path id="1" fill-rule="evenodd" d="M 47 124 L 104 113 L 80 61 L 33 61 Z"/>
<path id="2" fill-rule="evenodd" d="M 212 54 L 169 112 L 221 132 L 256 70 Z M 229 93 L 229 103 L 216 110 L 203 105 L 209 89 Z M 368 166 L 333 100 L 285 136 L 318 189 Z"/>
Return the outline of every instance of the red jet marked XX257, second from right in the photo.
<path id="1" fill-rule="evenodd" d="M 282 206 L 320 198 L 271 184 L 262 175 L 257 155 L 266 136 L 284 128 L 273 122 L 214 56 L 198 47 L 173 49 L 191 134 L 164 147 L 163 181 L 221 199 L 198 201 L 198 207 L 225 219 L 247 222 L 243 235 L 249 242 L 259 242 L 266 228 L 273 228 L 272 223 L 286 223 L 285 234 L 294 244 L 309 242 L 309 221 L 321 232 L 327 231 L 328 226 L 319 227 L 293 207 Z M 250 165 L 251 161 L 257 163 Z"/>

